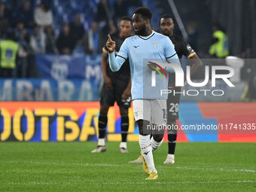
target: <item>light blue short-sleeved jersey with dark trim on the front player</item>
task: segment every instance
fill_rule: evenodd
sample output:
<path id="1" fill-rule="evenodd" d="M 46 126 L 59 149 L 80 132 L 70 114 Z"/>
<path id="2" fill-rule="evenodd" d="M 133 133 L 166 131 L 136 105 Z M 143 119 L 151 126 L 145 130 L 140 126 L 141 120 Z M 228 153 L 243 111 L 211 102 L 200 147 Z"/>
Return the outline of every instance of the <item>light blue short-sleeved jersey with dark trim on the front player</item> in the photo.
<path id="1" fill-rule="evenodd" d="M 129 58 L 132 78 L 132 99 L 167 99 L 168 73 L 166 75 L 152 71 L 147 64 L 151 62 L 172 62 L 181 66 L 169 37 L 152 31 L 148 37 L 134 35 L 126 38 L 116 57 L 109 53 L 109 64 L 112 71 L 117 72 L 123 62 Z M 166 78 L 167 77 L 167 78 Z M 155 82 L 152 86 L 152 81 Z"/>

